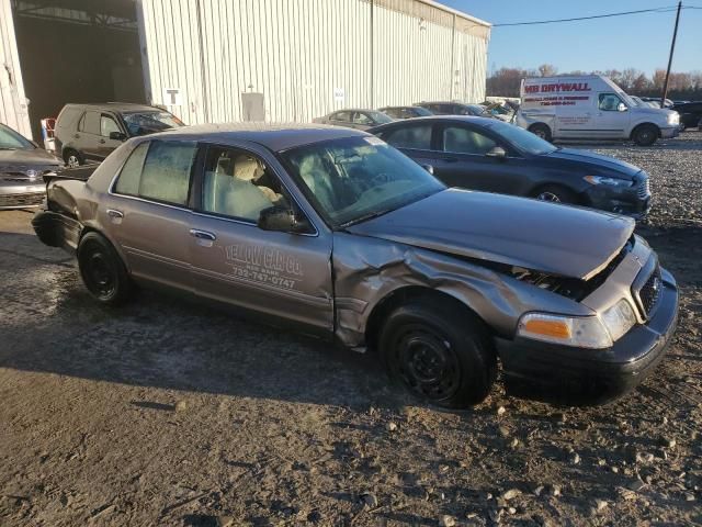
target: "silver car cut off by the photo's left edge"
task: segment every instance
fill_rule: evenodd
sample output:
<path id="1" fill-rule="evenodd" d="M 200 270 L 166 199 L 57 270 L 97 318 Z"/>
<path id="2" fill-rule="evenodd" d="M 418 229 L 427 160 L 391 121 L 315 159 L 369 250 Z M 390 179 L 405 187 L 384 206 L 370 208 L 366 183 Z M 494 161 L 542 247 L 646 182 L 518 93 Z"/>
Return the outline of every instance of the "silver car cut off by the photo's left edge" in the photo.
<path id="1" fill-rule="evenodd" d="M 42 176 L 63 162 L 14 130 L 0 123 L 0 210 L 34 208 L 42 203 Z"/>

